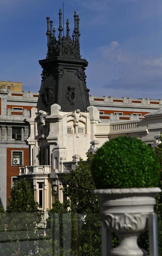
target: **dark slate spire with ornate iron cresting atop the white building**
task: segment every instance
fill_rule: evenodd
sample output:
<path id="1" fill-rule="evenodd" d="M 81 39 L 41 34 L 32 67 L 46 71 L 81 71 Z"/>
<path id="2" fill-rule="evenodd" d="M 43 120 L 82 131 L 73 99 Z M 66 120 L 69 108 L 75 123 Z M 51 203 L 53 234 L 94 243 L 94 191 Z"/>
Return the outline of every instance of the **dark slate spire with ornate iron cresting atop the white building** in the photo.
<path id="1" fill-rule="evenodd" d="M 40 60 L 43 68 L 42 83 L 38 99 L 38 110 L 50 113 L 54 103 L 61 106 L 61 111 L 71 112 L 80 109 L 87 111 L 89 89 L 86 86 L 85 69 L 88 62 L 81 59 L 79 46 L 79 15 L 74 12 L 74 31 L 70 37 L 69 20 L 66 22 L 66 36 L 62 36 L 61 9 L 59 9 L 59 35 L 55 36 L 53 21 L 47 17 L 47 57 Z"/>

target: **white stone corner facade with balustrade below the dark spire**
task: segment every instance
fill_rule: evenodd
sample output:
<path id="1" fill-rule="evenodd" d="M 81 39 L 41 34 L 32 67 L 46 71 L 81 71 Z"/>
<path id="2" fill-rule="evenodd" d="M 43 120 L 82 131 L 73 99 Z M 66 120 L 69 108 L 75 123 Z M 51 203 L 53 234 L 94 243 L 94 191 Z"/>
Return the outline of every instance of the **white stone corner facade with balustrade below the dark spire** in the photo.
<path id="1" fill-rule="evenodd" d="M 87 112 L 61 112 L 53 104 L 51 114 L 33 108 L 27 139 L 30 148 L 30 164 L 20 168 L 20 178 L 33 179 L 35 199 L 39 202 L 38 186 L 43 183 L 44 209 L 50 208 L 56 198 L 65 200 L 60 188 L 66 185 L 65 173 L 75 169 L 80 158 L 86 160 L 86 152 L 95 153 L 108 140 L 116 136 L 137 137 L 151 147 L 157 146 L 162 132 L 162 113 L 157 110 L 138 121 L 102 123 L 99 110 L 90 106 Z"/>

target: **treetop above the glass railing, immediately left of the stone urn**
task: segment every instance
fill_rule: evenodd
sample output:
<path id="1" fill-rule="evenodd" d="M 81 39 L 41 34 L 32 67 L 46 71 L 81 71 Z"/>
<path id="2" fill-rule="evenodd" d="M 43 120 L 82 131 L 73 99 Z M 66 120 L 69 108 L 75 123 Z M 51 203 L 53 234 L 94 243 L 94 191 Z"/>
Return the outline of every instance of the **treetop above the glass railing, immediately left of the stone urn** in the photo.
<path id="1" fill-rule="evenodd" d="M 63 191 L 69 197 L 72 212 L 100 213 L 98 197 L 92 193 L 95 189 L 90 171 L 92 158 L 92 153 L 88 153 L 87 161 L 80 159 L 76 169 L 65 175 L 68 186 Z"/>

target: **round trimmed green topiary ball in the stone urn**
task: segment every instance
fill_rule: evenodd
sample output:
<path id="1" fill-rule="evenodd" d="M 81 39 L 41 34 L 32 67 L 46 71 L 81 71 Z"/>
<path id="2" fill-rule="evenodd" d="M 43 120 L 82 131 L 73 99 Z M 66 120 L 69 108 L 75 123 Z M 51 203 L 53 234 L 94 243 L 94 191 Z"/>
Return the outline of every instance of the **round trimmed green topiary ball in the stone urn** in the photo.
<path id="1" fill-rule="evenodd" d="M 97 189 L 156 187 L 159 169 L 153 150 L 129 136 L 107 141 L 97 150 L 91 164 Z"/>

